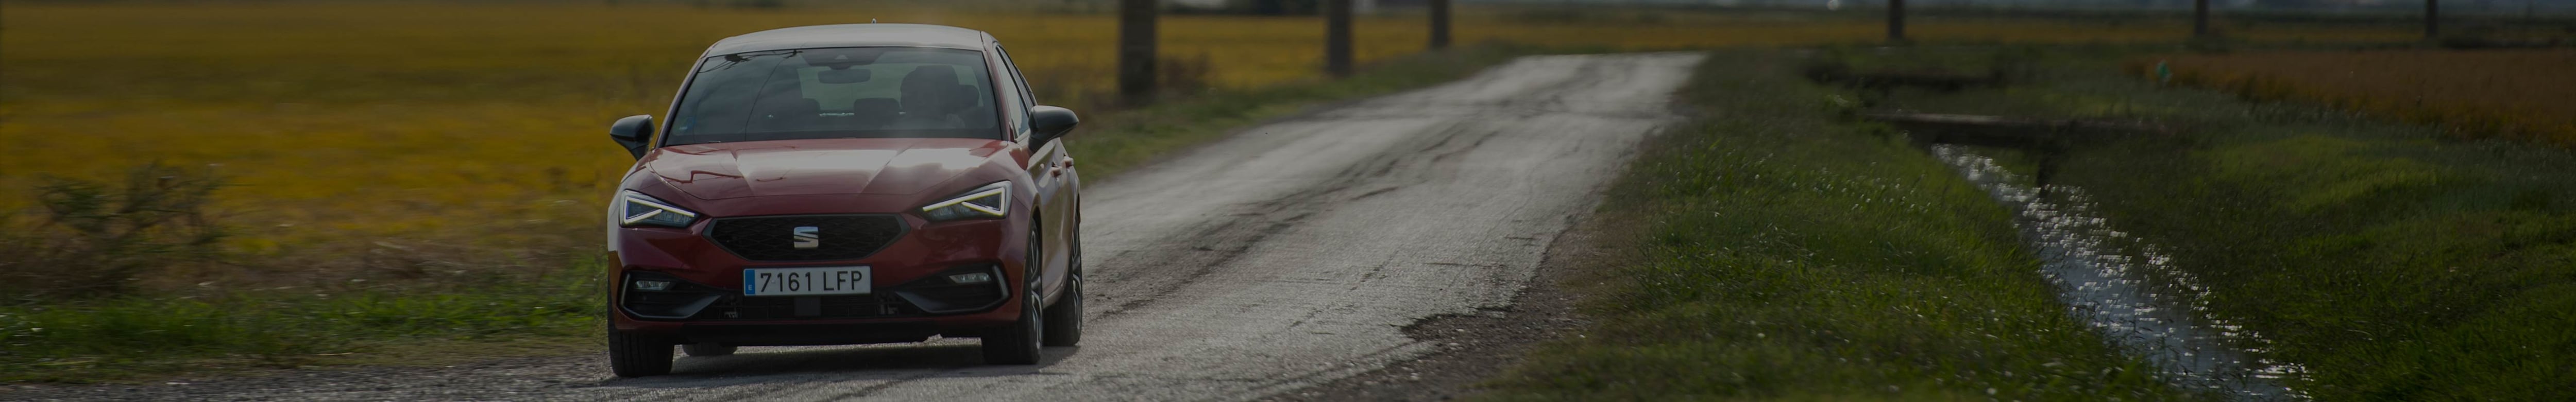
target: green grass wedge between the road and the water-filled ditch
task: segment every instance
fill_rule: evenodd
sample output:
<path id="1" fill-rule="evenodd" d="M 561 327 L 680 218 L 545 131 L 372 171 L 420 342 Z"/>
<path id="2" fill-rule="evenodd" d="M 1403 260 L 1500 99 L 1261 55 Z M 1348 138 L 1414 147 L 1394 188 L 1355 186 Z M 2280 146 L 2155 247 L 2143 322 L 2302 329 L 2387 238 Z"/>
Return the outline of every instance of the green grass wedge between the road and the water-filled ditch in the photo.
<path id="1" fill-rule="evenodd" d="M 1847 124 L 1788 52 L 1718 52 L 1597 219 L 1597 325 L 1489 399 L 2195 399 L 2066 314 L 2012 216 Z"/>

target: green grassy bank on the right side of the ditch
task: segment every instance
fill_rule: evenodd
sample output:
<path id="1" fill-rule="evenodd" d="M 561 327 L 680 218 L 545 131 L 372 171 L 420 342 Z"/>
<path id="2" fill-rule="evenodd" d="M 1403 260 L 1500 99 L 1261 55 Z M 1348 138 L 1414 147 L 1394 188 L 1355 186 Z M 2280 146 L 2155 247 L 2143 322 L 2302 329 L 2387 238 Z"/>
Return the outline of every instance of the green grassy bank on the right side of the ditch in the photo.
<path id="1" fill-rule="evenodd" d="M 2125 57 L 2058 49 L 2045 80 L 1888 106 L 2187 126 L 2076 149 L 2058 183 L 2174 255 L 2316 399 L 2576 397 L 2576 152 L 2156 88 Z"/>

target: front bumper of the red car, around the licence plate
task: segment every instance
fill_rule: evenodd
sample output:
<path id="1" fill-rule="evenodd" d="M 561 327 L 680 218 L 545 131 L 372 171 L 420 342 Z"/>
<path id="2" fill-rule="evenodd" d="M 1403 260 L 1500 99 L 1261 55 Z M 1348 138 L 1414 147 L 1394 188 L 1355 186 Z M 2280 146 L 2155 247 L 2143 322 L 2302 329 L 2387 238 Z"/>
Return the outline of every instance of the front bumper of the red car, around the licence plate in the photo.
<path id="1" fill-rule="evenodd" d="M 1025 296 L 1025 227 L 1015 219 L 940 222 L 902 216 L 904 235 L 853 260 L 747 260 L 706 232 L 618 229 L 611 253 L 611 327 L 719 345 L 853 345 L 914 343 L 930 335 L 971 338 L 1020 317 Z M 744 268 L 868 265 L 871 294 L 742 296 Z M 992 273 L 992 283 L 953 283 L 956 273 Z M 641 291 L 634 281 L 675 281 Z"/>

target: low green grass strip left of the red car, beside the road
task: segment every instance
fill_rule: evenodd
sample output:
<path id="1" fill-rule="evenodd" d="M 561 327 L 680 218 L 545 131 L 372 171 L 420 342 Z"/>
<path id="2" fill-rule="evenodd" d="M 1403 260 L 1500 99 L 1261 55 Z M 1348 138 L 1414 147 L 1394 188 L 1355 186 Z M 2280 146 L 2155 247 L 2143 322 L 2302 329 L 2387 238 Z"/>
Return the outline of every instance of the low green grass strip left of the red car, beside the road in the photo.
<path id="1" fill-rule="evenodd" d="M 513 286 L 214 299 L 121 296 L 0 307 L 0 381 L 118 381 L 196 368 L 291 368 L 425 356 L 415 343 L 595 338 L 598 265 Z M 392 358 L 402 361 L 402 358 Z"/>

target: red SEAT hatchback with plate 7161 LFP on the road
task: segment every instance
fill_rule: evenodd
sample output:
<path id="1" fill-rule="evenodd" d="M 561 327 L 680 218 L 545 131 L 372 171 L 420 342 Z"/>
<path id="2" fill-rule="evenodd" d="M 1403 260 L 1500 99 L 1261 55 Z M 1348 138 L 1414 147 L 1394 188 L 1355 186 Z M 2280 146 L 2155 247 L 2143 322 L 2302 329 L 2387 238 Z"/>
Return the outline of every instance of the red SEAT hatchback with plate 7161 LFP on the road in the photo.
<path id="1" fill-rule="evenodd" d="M 984 338 L 987 363 L 1082 340 L 1074 111 L 1038 106 L 992 34 L 848 23 L 716 41 L 670 121 L 611 126 L 608 361 L 672 345 Z M 659 134 L 657 134 L 659 131 Z"/>

